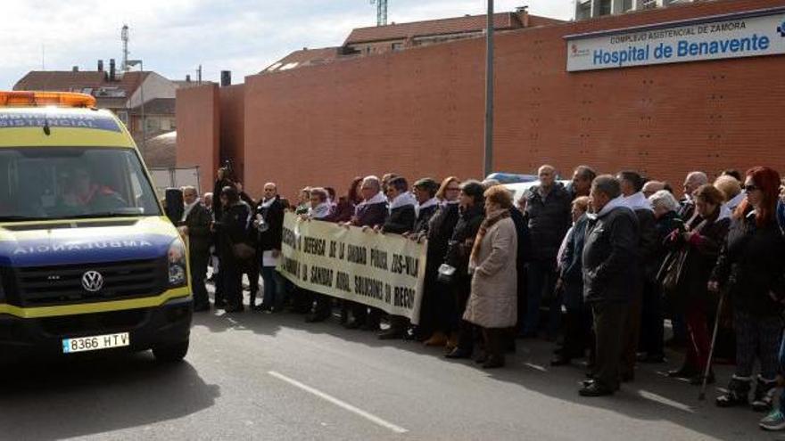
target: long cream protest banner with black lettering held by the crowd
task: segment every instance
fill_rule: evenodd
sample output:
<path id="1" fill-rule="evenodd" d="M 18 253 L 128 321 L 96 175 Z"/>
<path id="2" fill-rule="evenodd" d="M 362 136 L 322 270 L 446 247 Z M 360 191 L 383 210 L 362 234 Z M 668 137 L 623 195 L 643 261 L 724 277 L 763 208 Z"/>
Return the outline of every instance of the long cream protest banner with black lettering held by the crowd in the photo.
<path id="1" fill-rule="evenodd" d="M 286 213 L 281 248 L 278 272 L 300 288 L 419 322 L 425 244 Z"/>

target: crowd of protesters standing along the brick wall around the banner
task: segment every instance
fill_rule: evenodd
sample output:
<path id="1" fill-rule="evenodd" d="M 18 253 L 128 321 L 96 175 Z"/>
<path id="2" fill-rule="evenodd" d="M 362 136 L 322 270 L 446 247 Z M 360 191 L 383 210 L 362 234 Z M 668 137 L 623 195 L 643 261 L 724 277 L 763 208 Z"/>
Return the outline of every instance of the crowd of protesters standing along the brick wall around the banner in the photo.
<path id="1" fill-rule="evenodd" d="M 785 429 L 785 398 L 772 409 L 785 363 L 780 175 L 754 167 L 709 182 L 696 171 L 681 199 L 670 184 L 634 171 L 598 176 L 580 166 L 562 184 L 545 165 L 538 176 L 518 200 L 492 180 L 409 184 L 391 173 L 356 177 L 340 196 L 307 187 L 290 204 L 273 183 L 253 200 L 220 169 L 213 193 L 200 200 L 195 189 L 184 191 L 194 309 L 211 307 L 204 286 L 211 262 L 215 307 L 227 313 L 244 310 L 247 274 L 253 311 L 289 309 L 308 322 L 340 311 L 349 329 L 444 347 L 446 357 L 474 358 L 486 369 L 504 366 L 516 339 L 549 339 L 553 366 L 586 360 L 582 396 L 613 395 L 635 380 L 637 363 L 665 363 L 665 347 L 682 345 L 682 366 L 669 377 L 705 387 L 715 382 L 713 355 L 734 361 L 716 404 L 771 411 L 761 427 Z M 419 323 L 299 289 L 277 274 L 287 210 L 305 221 L 426 240 Z"/>

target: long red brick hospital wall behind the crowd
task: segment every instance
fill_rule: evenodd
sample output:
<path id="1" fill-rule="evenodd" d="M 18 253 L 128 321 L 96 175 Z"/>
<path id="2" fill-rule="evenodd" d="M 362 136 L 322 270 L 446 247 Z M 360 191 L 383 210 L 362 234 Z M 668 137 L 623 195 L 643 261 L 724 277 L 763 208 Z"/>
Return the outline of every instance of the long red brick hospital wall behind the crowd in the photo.
<path id="1" fill-rule="evenodd" d="M 567 72 L 565 39 L 783 6 L 720 0 L 500 33 L 494 168 L 630 168 L 676 187 L 693 169 L 785 171 L 785 56 Z M 232 158 L 254 194 L 387 171 L 482 177 L 483 63 L 483 38 L 469 37 L 178 91 L 178 165 Z"/>

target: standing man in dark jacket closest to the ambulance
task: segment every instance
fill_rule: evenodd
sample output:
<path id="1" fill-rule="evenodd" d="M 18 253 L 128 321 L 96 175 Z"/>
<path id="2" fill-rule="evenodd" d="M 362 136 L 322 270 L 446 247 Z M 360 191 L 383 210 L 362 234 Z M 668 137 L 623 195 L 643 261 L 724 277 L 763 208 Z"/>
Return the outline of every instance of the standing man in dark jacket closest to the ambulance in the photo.
<path id="1" fill-rule="evenodd" d="M 188 257 L 191 262 L 191 289 L 194 291 L 194 311 L 209 311 L 210 298 L 204 279 L 207 277 L 207 260 L 210 257 L 212 221 L 210 212 L 202 206 L 194 187 L 183 189 L 186 209 L 180 221 L 180 232 L 188 237 Z"/>

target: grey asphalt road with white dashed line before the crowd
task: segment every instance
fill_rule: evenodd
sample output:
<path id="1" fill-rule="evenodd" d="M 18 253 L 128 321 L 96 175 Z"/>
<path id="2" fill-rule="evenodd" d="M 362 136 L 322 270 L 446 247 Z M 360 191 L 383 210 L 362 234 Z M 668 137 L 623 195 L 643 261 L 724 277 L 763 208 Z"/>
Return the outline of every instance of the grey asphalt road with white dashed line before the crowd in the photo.
<path id="1" fill-rule="evenodd" d="M 544 341 L 519 340 L 507 368 L 485 372 L 336 321 L 246 312 L 197 314 L 191 345 L 176 365 L 139 354 L 12 367 L 0 439 L 785 439 L 757 429 L 758 413 L 716 408 L 714 388 L 701 404 L 665 365 L 616 396 L 578 396 L 583 369 L 550 368 Z"/>

